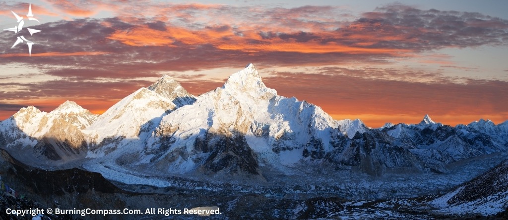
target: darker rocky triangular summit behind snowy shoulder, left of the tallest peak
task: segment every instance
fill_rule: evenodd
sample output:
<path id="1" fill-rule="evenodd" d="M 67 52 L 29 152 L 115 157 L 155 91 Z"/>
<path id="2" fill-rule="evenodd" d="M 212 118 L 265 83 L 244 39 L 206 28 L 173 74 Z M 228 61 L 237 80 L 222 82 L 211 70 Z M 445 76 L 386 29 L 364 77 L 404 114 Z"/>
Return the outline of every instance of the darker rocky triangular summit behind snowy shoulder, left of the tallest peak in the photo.
<path id="1" fill-rule="evenodd" d="M 175 78 L 169 75 L 162 76 L 148 86 L 148 90 L 170 100 L 177 107 L 192 104 L 196 101 L 196 97 L 189 94 Z"/>

